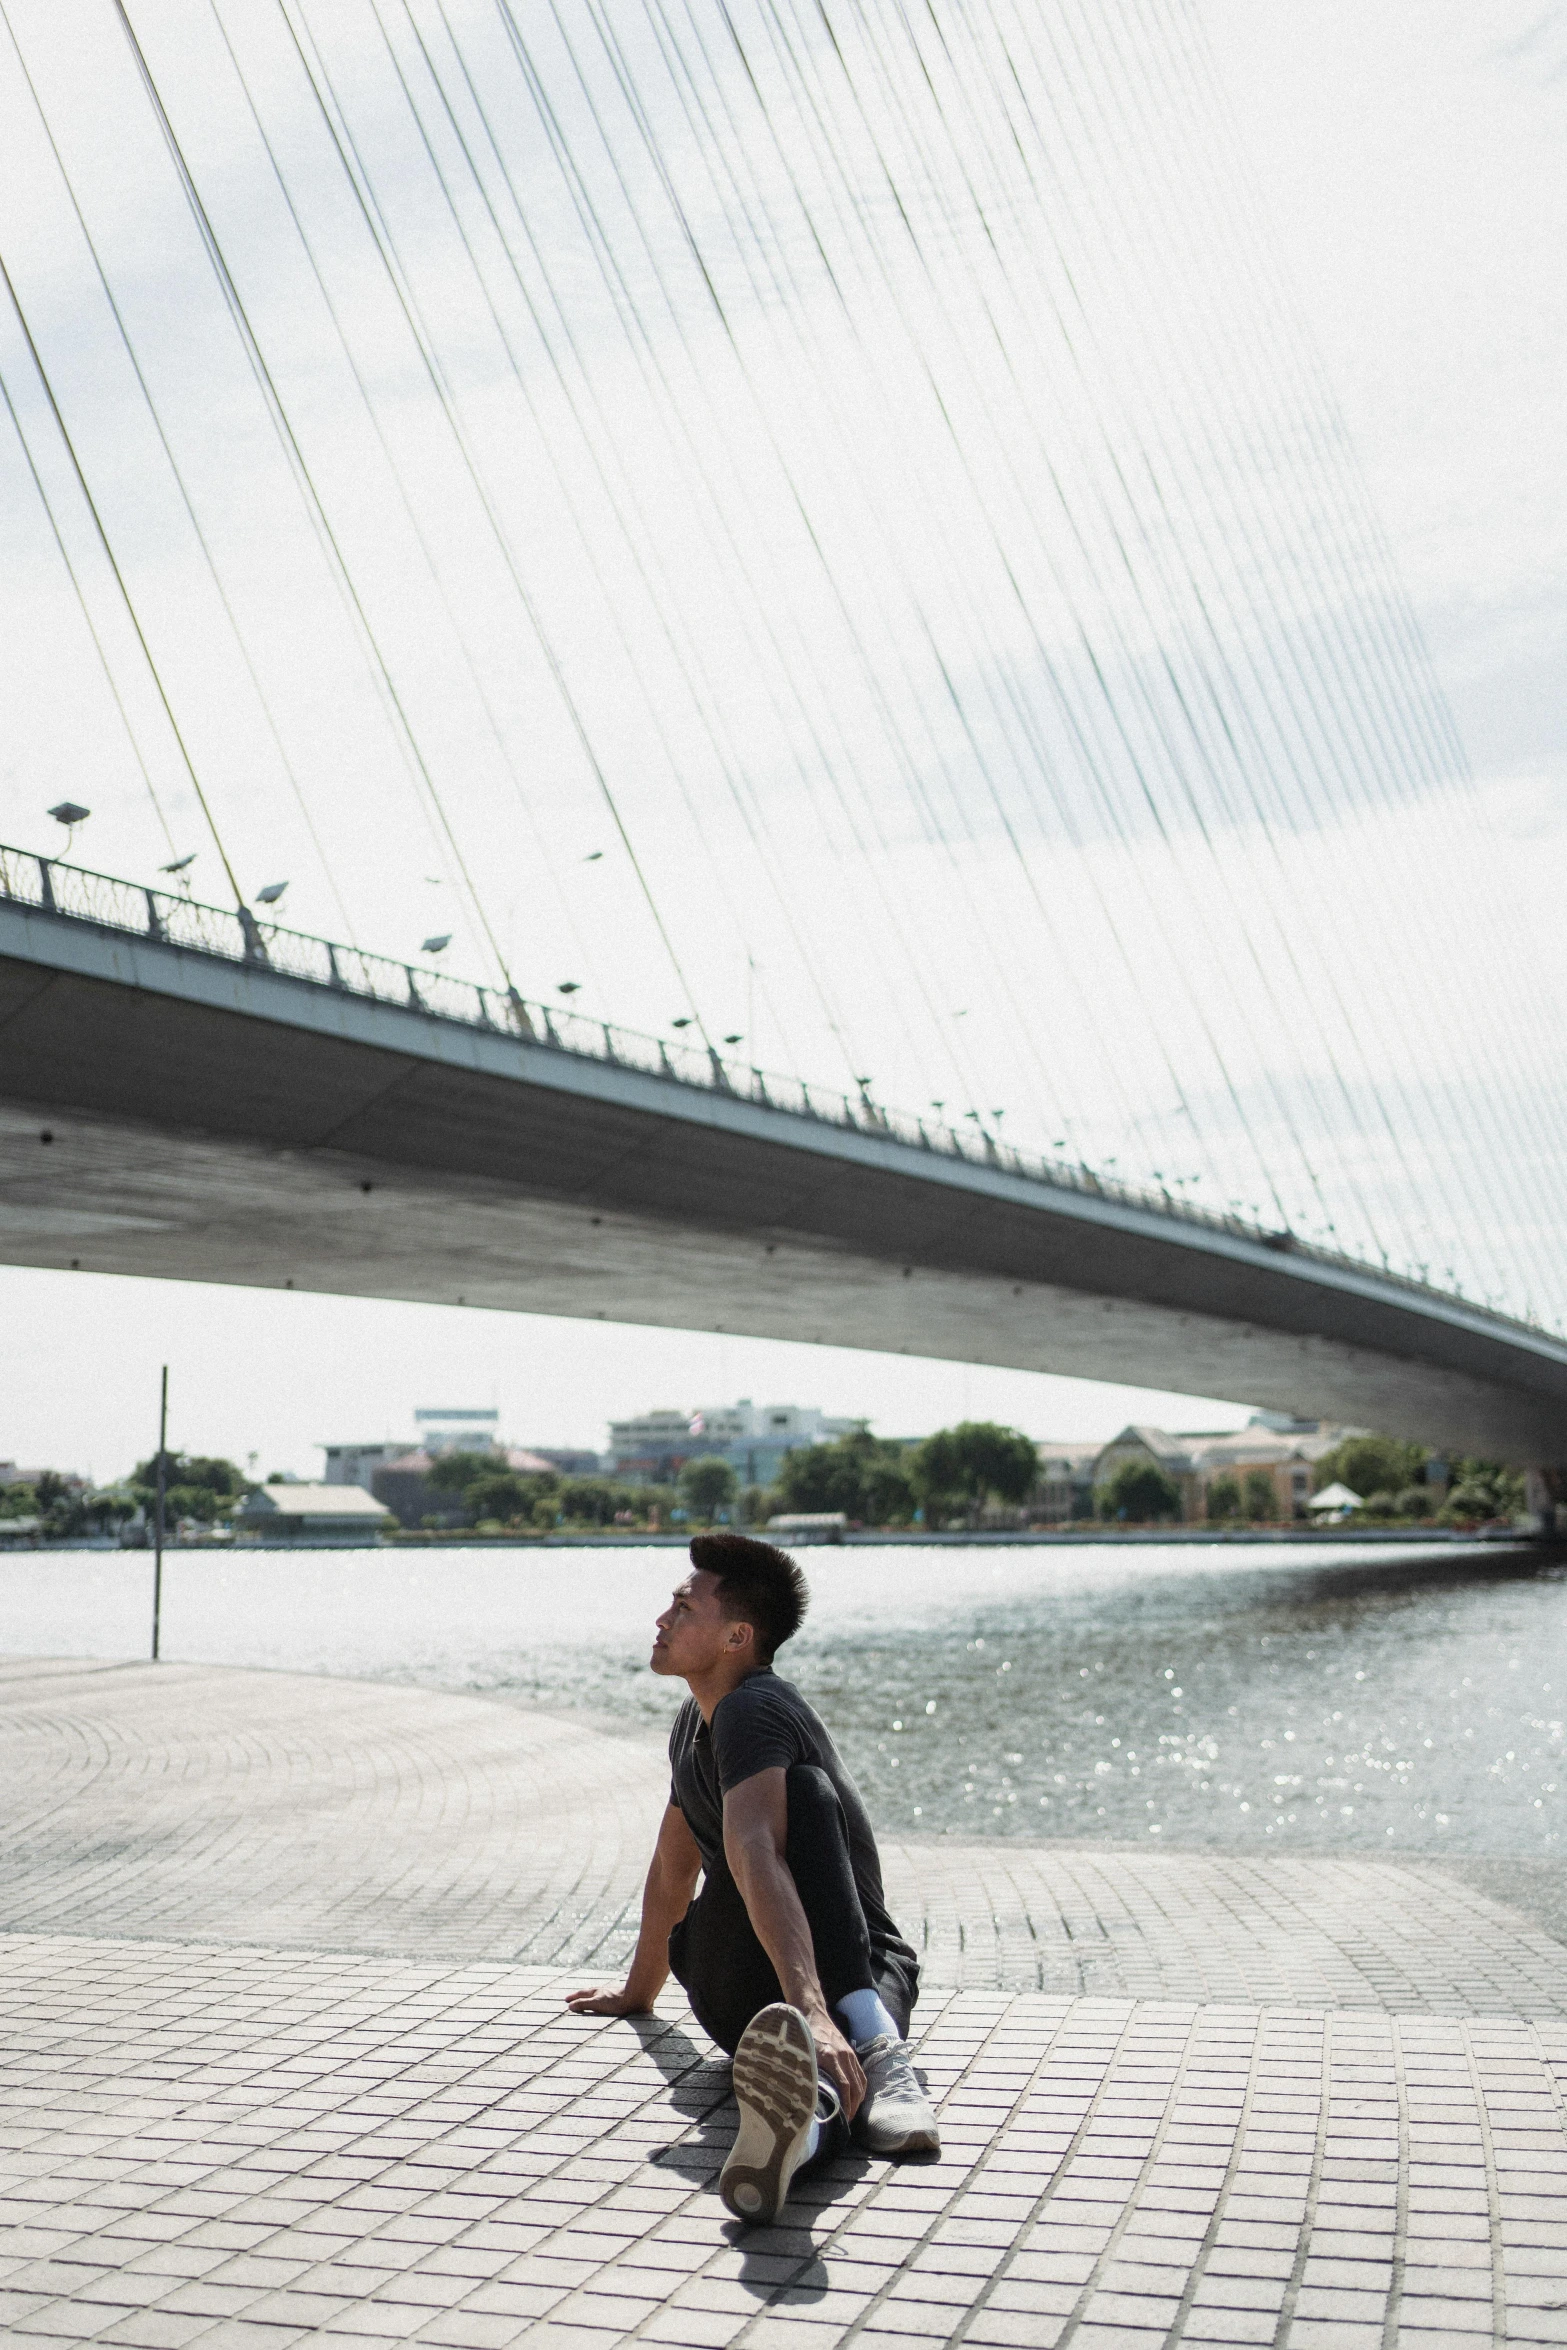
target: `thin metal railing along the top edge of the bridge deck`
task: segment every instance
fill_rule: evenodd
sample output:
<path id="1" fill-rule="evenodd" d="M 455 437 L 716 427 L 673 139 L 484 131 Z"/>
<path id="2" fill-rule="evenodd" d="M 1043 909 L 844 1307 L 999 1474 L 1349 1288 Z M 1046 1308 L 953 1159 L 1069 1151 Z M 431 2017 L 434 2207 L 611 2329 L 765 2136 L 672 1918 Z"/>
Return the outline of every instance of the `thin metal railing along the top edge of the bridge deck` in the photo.
<path id="1" fill-rule="evenodd" d="M 428 1013 L 435 1020 L 453 1020 L 465 1027 L 489 1029 L 491 1034 L 510 1034 L 557 1053 L 571 1053 L 578 1060 L 641 1069 L 677 1086 L 721 1093 L 766 1109 L 787 1109 L 794 1116 L 820 1119 L 829 1126 L 853 1128 L 855 1133 L 888 1135 L 895 1142 L 937 1152 L 947 1159 L 963 1159 L 970 1166 L 1003 1168 L 1008 1175 L 1022 1175 L 1057 1191 L 1078 1191 L 1116 1201 L 1125 1208 L 1175 1217 L 1182 1224 L 1198 1224 L 1208 1231 L 1229 1231 L 1245 1241 L 1259 1241 L 1266 1248 L 1311 1257 L 1318 1264 L 1334 1264 L 1358 1274 L 1370 1271 L 1379 1281 L 1393 1281 L 1419 1295 L 1447 1300 L 1445 1290 L 1414 1274 L 1403 1274 L 1393 1267 L 1370 1267 L 1349 1253 L 1302 1241 L 1297 1234 L 1271 1231 L 1250 1217 L 1217 1213 L 1172 1191 L 1149 1191 L 1074 1161 L 1034 1159 L 1003 1142 L 977 1119 L 961 1123 L 916 1119 L 872 1100 L 865 1088 L 858 1095 L 848 1095 L 832 1086 L 815 1086 L 796 1076 L 756 1069 L 749 1062 L 719 1053 L 700 1034 L 686 1036 L 681 1029 L 672 1039 L 644 1036 L 608 1020 L 592 1020 L 587 1013 L 576 1013 L 569 1006 L 524 1001 L 515 987 L 482 987 L 477 980 L 453 978 L 453 973 L 437 971 L 430 964 L 402 964 L 385 954 L 366 954 L 362 947 L 341 947 L 324 938 L 310 938 L 305 931 L 289 931 L 284 924 L 258 916 L 254 907 L 228 912 L 226 907 L 202 905 L 186 891 L 160 891 L 136 881 L 117 881 L 82 865 L 66 865 L 61 858 L 42 858 L 33 851 L 0 844 L 0 902 L 7 898 L 14 905 L 35 907 L 61 921 L 85 921 L 101 931 L 181 947 L 188 954 L 211 954 L 228 964 L 249 964 L 362 1001 L 397 1003 Z M 686 1027 L 695 1027 L 695 1022 L 686 1022 Z M 1534 1330 L 1532 1323 L 1497 1314 L 1494 1307 L 1485 1311 L 1492 1321 L 1511 1323 L 1518 1330 Z"/>

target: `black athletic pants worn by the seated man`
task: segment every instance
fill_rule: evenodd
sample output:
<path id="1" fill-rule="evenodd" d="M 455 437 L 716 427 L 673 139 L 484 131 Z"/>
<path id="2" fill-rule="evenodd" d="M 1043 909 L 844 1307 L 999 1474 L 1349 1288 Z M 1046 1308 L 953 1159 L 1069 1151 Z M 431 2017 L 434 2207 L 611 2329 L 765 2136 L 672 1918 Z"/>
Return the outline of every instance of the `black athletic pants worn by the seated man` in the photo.
<path id="1" fill-rule="evenodd" d="M 846 1990 L 879 1990 L 907 2037 L 916 1986 L 895 1960 L 876 1960 L 860 1908 L 848 1828 L 839 1791 L 815 1762 L 785 1774 L 789 1840 L 785 1859 L 815 1946 L 815 1972 L 827 2005 Z M 724 1856 L 705 1871 L 702 1889 L 670 1934 L 670 1969 L 684 1983 L 691 2012 L 721 2049 L 735 2054 L 740 2033 L 761 2007 L 782 2000 L 773 1960 L 756 1941 L 740 1887 Z"/>

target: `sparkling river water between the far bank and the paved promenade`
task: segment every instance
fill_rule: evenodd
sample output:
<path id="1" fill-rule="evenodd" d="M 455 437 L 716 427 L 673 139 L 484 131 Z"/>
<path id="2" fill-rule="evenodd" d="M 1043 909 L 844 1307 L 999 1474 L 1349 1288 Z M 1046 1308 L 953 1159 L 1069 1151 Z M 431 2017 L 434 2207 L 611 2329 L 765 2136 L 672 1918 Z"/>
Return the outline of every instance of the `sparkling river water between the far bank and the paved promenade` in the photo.
<path id="1" fill-rule="evenodd" d="M 164 1560 L 164 1657 L 477 1690 L 655 1730 L 677 1549 Z M 1567 1570 L 1339 1544 L 808 1551 L 780 1657 L 902 1835 L 1546 1859 Z M 143 1553 L 0 1556 L 0 1650 L 146 1654 Z"/>

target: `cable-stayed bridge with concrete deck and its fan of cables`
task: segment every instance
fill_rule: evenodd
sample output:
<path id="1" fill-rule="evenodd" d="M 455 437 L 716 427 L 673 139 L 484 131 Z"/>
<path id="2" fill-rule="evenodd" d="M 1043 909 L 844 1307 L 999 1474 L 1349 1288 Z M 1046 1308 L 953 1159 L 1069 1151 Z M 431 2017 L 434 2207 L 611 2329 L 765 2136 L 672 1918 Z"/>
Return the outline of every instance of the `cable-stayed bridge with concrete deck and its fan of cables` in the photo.
<path id="1" fill-rule="evenodd" d="M 1565 1457 L 1560 1008 L 1264 214 L 1186 0 L 5 0 L 7 1253 Z"/>

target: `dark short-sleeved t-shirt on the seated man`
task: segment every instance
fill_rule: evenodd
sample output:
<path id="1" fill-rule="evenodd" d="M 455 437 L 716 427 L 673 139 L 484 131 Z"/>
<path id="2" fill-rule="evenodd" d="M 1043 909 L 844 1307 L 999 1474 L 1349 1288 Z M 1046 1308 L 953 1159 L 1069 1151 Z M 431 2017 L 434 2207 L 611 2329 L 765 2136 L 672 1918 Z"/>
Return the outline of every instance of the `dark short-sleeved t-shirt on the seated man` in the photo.
<path id="1" fill-rule="evenodd" d="M 724 1866 L 724 1798 L 731 1788 L 754 1779 L 759 1770 L 789 1770 L 794 1762 L 818 1762 L 843 1805 L 848 1856 L 872 1936 L 872 1958 L 893 1958 L 919 1981 L 919 1960 L 888 1915 L 881 1859 L 860 1788 L 848 1777 L 827 1725 L 771 1664 L 747 1673 L 728 1697 L 719 1699 L 712 1725 L 702 1720 L 695 1697 L 688 1697 L 674 1716 L 670 1802 L 686 1814 L 702 1866 L 707 1873 Z"/>

